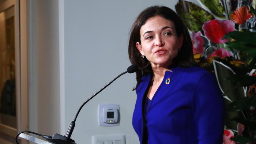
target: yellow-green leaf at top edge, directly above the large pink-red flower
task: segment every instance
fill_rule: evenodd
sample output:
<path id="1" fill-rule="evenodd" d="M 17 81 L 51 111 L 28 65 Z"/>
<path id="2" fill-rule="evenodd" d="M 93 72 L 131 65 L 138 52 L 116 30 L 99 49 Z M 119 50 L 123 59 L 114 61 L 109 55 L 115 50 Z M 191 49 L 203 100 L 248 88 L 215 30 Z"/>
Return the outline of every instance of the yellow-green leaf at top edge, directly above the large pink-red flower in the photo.
<path id="1" fill-rule="evenodd" d="M 214 15 L 225 18 L 224 10 L 219 0 L 200 0 Z"/>

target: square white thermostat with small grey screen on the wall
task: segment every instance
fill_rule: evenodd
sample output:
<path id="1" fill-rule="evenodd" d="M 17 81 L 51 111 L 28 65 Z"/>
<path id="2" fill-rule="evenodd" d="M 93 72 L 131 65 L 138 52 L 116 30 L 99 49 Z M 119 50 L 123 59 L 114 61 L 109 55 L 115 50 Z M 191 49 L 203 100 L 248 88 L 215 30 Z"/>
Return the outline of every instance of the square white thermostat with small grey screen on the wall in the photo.
<path id="1" fill-rule="evenodd" d="M 119 125 L 119 105 L 105 104 L 98 107 L 99 126 Z"/>

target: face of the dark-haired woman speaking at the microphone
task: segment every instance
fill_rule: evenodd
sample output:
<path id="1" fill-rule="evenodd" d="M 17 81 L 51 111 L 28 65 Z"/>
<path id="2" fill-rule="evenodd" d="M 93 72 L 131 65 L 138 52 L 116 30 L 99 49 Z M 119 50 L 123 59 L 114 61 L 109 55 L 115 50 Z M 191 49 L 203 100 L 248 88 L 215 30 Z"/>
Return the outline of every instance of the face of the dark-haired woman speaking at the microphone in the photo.
<path id="1" fill-rule="evenodd" d="M 161 65 L 167 68 L 182 46 L 183 35 L 177 36 L 172 21 L 154 16 L 140 28 L 140 42 L 136 42 L 136 47 L 152 67 Z"/>

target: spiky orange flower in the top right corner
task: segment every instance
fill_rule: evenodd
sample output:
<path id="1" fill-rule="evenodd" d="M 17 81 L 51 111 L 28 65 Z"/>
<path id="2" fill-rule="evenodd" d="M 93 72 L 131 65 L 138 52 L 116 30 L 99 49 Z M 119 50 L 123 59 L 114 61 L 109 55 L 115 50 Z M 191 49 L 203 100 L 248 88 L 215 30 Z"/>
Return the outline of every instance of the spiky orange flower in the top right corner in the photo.
<path id="1" fill-rule="evenodd" d="M 233 21 L 238 24 L 244 24 L 247 19 L 251 18 L 250 10 L 247 6 L 242 6 L 234 11 L 234 15 L 231 14 Z"/>

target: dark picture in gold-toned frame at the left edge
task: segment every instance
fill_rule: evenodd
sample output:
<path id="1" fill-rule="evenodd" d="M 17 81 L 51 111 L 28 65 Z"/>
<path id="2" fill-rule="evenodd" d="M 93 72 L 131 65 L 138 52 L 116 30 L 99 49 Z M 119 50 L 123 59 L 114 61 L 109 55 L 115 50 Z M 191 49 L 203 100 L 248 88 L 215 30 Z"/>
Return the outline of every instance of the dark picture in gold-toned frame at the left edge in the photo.
<path id="1" fill-rule="evenodd" d="M 15 137 L 20 119 L 20 46 L 17 0 L 0 0 L 0 133 Z"/>

